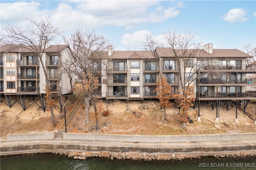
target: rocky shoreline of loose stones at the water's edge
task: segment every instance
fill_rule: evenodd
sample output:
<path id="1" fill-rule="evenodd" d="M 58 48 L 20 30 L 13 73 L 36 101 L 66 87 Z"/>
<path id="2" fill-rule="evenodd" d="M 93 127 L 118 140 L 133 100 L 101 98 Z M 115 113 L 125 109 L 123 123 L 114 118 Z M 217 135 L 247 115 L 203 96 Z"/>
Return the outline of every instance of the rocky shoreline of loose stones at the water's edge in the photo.
<path id="1" fill-rule="evenodd" d="M 158 153 L 128 153 L 128 152 L 94 152 L 94 151 L 70 151 L 70 152 L 53 152 L 52 154 L 60 154 L 66 155 L 70 158 L 85 160 L 90 157 L 98 157 L 98 158 L 108 158 L 111 160 L 144 160 L 144 161 L 152 161 L 152 160 L 164 160 L 164 161 L 182 161 L 185 159 L 200 159 L 201 156 L 196 155 L 188 155 L 188 156 L 177 156 L 175 154 L 158 154 Z M 214 158 L 249 158 L 255 157 L 255 154 L 214 154 L 212 155 Z"/>

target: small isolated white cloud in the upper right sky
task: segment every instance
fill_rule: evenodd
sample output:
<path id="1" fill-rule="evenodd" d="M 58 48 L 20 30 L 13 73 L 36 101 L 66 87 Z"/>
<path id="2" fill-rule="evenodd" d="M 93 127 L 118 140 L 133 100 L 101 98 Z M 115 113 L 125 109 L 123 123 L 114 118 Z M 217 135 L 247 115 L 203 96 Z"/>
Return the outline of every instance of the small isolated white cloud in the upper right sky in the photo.
<path id="1" fill-rule="evenodd" d="M 227 14 L 224 15 L 224 20 L 227 22 L 245 22 L 246 18 L 246 11 L 242 8 L 233 8 L 228 11 Z"/>

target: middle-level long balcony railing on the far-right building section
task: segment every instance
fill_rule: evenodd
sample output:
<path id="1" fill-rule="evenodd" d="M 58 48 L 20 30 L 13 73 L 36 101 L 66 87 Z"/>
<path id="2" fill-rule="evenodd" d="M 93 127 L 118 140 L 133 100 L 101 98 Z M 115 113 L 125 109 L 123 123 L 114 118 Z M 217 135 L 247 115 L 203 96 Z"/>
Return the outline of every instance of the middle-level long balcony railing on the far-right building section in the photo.
<path id="1" fill-rule="evenodd" d="M 256 79 L 246 78 L 246 79 L 210 79 L 210 78 L 200 78 L 200 84 L 254 84 Z M 196 83 L 199 83 L 199 79 L 196 79 Z"/>

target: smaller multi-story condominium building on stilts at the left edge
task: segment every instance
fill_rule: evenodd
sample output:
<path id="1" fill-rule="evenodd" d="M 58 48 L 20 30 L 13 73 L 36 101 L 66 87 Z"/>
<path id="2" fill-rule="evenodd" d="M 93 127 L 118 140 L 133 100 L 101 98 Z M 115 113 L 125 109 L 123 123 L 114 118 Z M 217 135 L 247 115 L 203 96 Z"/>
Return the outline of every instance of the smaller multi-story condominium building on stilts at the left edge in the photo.
<path id="1" fill-rule="evenodd" d="M 42 62 L 47 72 L 50 93 L 60 98 L 71 89 L 68 75 L 65 74 L 61 61 L 68 58 L 69 47 L 66 45 L 48 45 L 42 54 Z M 46 93 L 46 76 L 39 56 L 30 46 L 3 45 L 0 47 L 0 96 L 4 102 L 12 107 L 17 101 L 26 109 L 25 99 L 33 99 L 46 108 L 44 95 Z M 16 99 L 15 99 L 16 98 Z M 37 98 L 37 99 L 35 99 Z M 6 101 L 5 101 L 6 99 Z"/>

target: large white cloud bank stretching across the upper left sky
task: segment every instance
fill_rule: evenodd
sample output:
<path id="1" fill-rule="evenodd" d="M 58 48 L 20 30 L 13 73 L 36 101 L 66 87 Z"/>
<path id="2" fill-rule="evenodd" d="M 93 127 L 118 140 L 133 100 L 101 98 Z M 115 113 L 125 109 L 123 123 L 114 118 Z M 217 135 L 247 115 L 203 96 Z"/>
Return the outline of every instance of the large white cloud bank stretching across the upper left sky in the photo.
<path id="1" fill-rule="evenodd" d="M 160 6 L 160 1 L 60 1 L 1 3 L 1 25 L 7 21 L 20 25 L 26 17 L 52 18 L 65 32 L 77 28 L 124 26 L 134 28 L 156 23 L 179 14 L 177 4 Z M 48 5 L 54 8 L 48 8 Z M 56 5 L 56 6 L 55 6 Z M 52 7 L 51 6 L 51 7 Z M 180 6 L 180 4 L 178 5 Z"/>

